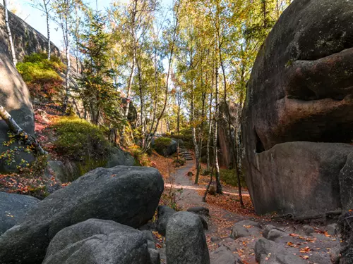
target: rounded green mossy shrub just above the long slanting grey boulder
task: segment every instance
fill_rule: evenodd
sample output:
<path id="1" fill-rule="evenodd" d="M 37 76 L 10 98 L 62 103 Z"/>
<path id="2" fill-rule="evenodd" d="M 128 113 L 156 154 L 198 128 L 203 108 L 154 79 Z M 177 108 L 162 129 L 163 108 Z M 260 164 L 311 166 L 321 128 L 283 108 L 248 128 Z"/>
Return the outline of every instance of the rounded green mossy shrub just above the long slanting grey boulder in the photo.
<path id="1" fill-rule="evenodd" d="M 54 125 L 57 139 L 54 149 L 74 161 L 102 160 L 110 144 L 100 127 L 77 117 L 60 118 Z M 85 165 L 87 167 L 87 165 Z"/>

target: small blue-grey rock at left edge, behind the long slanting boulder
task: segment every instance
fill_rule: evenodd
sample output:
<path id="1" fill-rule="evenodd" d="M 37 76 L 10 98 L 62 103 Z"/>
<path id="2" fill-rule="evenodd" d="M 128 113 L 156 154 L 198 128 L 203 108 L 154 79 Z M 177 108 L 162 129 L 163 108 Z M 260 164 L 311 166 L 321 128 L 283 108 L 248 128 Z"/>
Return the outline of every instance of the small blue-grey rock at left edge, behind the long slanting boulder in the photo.
<path id="1" fill-rule="evenodd" d="M 37 208 L 35 197 L 0 191 L 0 235 L 23 220 L 28 210 Z"/>

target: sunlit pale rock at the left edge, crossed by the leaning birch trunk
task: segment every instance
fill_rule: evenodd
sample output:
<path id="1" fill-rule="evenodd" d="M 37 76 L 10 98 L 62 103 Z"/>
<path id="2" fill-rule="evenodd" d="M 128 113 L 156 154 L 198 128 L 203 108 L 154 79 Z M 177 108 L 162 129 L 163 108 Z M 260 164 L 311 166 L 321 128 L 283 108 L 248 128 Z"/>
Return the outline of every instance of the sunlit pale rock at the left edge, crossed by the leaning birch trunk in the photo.
<path id="1" fill-rule="evenodd" d="M 1 13 L 2 11 L 0 11 Z M 1 42 L 0 35 L 0 42 Z M 8 57 L 6 50 L 1 48 L 0 45 L 0 102 L 4 106 L 6 111 L 10 113 L 12 118 L 22 129 L 30 135 L 35 134 L 35 120 L 30 102 L 30 92 L 28 87 L 23 82 L 22 77 L 13 66 L 11 60 Z M 4 120 L 0 118 L 0 142 L 8 141 L 8 125 Z M 15 151 L 15 147 L 18 151 Z M 15 162 L 11 159 L 1 158 L 0 159 L 0 172 L 11 172 L 16 170 L 16 165 L 20 164 L 20 161 L 24 159 L 27 162 L 34 160 L 31 153 L 25 152 L 23 146 L 19 146 L 17 143 L 11 144 L 11 146 L 4 146 L 0 144 L 0 154 L 4 151 L 12 149 L 13 157 Z"/>

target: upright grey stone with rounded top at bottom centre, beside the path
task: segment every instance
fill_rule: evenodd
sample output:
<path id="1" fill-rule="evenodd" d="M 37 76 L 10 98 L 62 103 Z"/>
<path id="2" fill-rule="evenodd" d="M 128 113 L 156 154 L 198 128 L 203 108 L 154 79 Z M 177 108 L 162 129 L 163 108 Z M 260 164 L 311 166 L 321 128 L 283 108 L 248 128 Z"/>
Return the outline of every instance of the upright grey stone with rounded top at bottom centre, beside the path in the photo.
<path id="1" fill-rule="evenodd" d="M 210 264 L 205 233 L 198 215 L 174 213 L 167 224 L 168 264 Z"/>

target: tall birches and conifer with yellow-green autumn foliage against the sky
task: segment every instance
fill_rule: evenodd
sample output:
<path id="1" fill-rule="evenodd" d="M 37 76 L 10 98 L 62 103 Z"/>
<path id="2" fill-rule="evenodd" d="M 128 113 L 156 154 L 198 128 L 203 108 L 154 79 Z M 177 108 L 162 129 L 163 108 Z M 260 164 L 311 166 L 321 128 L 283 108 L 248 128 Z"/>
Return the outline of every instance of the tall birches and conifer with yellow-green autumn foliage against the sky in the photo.
<path id="1" fill-rule="evenodd" d="M 217 161 L 220 103 L 225 103 L 236 177 L 241 173 L 239 125 L 232 124 L 229 101 L 237 103 L 237 120 L 246 82 L 256 54 L 268 32 L 291 0 L 160 0 L 112 1 L 99 11 L 83 0 L 32 0 L 62 30 L 66 54 L 66 105 L 70 94 L 70 56 L 83 62 L 80 94 L 94 113 L 93 121 L 124 137 L 131 101 L 139 108 L 135 136 L 143 151 L 150 149 L 161 122 L 179 134 L 192 131 L 198 168 L 207 149 L 207 167 L 215 170 L 217 193 L 222 193 Z M 6 9 L 6 0 L 4 0 Z M 6 24 L 8 25 L 8 24 Z M 11 36 L 9 34 L 9 36 Z M 78 68 L 78 67 L 77 67 Z M 125 110 L 116 105 L 126 98 Z M 214 161 L 210 159 L 213 151 Z M 240 184 L 239 184 L 240 188 Z M 240 191 L 240 190 L 239 190 Z"/>

